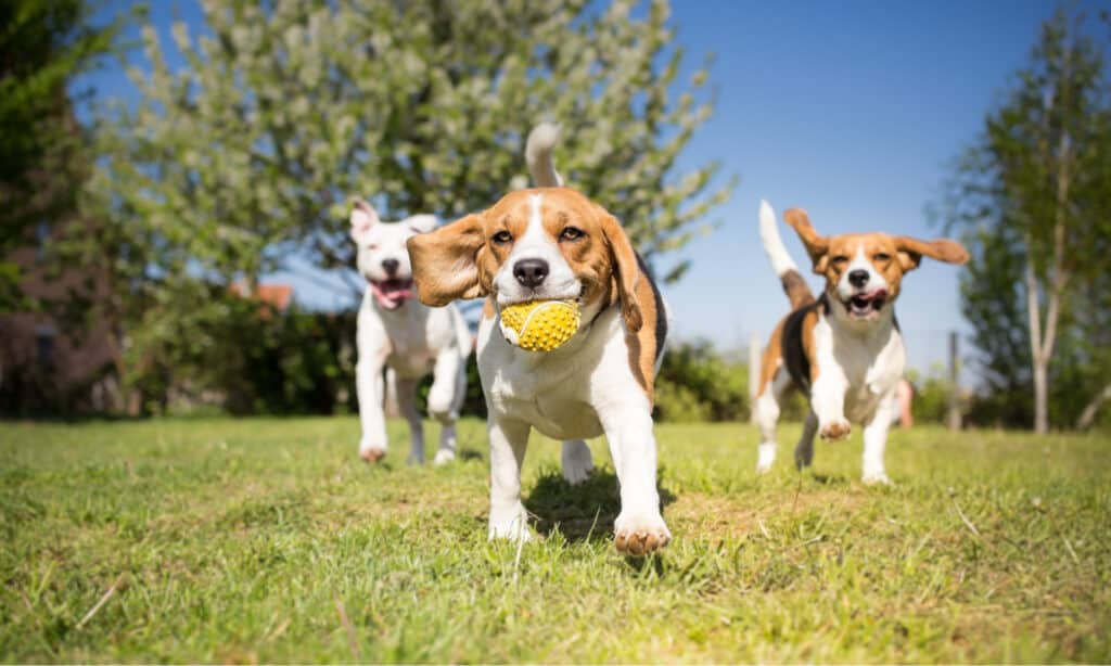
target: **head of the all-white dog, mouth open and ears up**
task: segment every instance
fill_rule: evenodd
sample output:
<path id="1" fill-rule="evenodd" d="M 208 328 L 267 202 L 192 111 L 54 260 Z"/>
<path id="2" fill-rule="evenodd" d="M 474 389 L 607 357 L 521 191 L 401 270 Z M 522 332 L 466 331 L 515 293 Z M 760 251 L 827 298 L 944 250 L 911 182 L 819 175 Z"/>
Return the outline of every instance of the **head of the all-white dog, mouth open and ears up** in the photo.
<path id="1" fill-rule="evenodd" d="M 366 278 L 382 309 L 397 310 L 413 296 L 412 266 L 406 241 L 433 229 L 433 215 L 382 222 L 364 201 L 357 201 L 351 209 L 351 240 L 358 248 L 359 273 Z"/>

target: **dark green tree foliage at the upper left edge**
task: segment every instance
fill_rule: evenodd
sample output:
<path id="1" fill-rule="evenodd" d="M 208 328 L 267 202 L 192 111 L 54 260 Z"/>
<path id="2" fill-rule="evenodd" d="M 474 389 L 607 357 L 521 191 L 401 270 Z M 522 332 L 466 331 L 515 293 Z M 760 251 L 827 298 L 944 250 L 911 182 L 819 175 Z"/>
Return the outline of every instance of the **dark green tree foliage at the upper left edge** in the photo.
<path id="1" fill-rule="evenodd" d="M 11 252 L 32 226 L 71 215 L 88 171 L 67 87 L 109 53 L 123 24 L 93 26 L 84 0 L 0 2 L 0 313 L 26 307 Z"/>

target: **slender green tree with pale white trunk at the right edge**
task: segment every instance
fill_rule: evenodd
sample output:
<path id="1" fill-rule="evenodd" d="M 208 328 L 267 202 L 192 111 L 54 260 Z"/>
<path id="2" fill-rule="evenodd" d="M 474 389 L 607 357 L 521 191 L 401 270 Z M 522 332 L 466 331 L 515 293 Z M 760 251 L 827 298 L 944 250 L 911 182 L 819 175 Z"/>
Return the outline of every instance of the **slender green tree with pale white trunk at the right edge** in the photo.
<path id="1" fill-rule="evenodd" d="M 961 293 L 988 387 L 1013 401 L 1014 413 L 1024 408 L 1015 392 L 1032 390 L 1039 433 L 1049 430 L 1053 411 L 1072 423 L 1087 402 L 1078 389 L 1098 380 L 1102 391 L 1107 375 L 1097 372 L 1111 354 L 1108 346 L 1080 349 L 1084 337 L 1077 334 L 1111 323 L 1105 307 L 1092 307 L 1111 238 L 1102 46 L 1083 30 L 1082 16 L 1060 10 L 1043 24 L 1030 63 L 960 161 L 944 213 L 948 226 L 965 230 L 973 256 Z M 1065 357 L 1090 357 L 1091 372 L 1058 367 Z M 1064 395 L 1052 386 L 1077 373 L 1083 380 L 1062 386 Z M 1062 400 L 1052 401 L 1054 393 Z"/>

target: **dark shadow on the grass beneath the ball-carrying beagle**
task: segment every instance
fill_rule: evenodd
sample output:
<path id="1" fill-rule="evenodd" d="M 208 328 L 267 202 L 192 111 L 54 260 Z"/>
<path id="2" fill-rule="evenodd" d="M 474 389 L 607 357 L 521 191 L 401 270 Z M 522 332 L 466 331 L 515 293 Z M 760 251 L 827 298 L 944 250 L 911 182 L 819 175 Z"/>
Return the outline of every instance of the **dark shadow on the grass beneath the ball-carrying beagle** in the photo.
<path id="1" fill-rule="evenodd" d="M 658 473 L 660 504 L 667 508 L 675 494 L 660 486 L 659 480 Z M 537 531 L 544 536 L 559 532 L 570 543 L 609 542 L 613 521 L 621 513 L 618 477 L 613 472 L 594 470 L 587 481 L 571 485 L 559 471 L 548 471 L 537 481 L 524 507 L 537 516 Z"/>

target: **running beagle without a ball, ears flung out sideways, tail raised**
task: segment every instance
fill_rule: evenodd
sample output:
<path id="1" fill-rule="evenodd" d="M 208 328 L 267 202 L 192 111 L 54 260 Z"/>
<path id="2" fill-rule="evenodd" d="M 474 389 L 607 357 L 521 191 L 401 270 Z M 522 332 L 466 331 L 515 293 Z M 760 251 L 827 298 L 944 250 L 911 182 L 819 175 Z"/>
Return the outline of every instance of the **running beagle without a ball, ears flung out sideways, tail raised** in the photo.
<path id="1" fill-rule="evenodd" d="M 775 326 L 761 363 L 754 404 L 761 434 L 757 468 L 765 472 L 775 460 L 780 400 L 797 387 L 807 394 L 810 414 L 794 450 L 795 464 L 803 467 L 813 460 L 814 434 L 843 440 L 850 422 L 857 422 L 864 426 L 864 483 L 891 483 L 883 450 L 907 364 L 894 315 L 902 278 L 923 256 L 961 264 L 968 252 L 947 239 L 822 236 L 800 209 L 787 211 L 783 219 L 802 240 L 814 273 L 825 278 L 825 289 L 815 300 L 783 246 L 774 212 L 761 202 L 760 235 L 792 312 Z"/>

